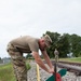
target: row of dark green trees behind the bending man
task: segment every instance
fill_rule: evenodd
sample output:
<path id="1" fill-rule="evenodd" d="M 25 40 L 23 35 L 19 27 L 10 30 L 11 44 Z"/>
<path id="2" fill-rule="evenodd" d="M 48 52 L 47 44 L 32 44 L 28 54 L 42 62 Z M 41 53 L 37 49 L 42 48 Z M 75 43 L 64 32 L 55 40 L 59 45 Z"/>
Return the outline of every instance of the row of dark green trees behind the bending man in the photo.
<path id="1" fill-rule="evenodd" d="M 72 33 L 58 33 L 46 31 L 51 39 L 52 45 L 48 49 L 48 54 L 52 58 L 54 57 L 54 50 L 57 49 L 59 57 L 67 57 L 67 54 L 72 53 L 75 57 L 81 56 L 81 37 Z M 43 36 L 45 35 L 43 33 Z"/>

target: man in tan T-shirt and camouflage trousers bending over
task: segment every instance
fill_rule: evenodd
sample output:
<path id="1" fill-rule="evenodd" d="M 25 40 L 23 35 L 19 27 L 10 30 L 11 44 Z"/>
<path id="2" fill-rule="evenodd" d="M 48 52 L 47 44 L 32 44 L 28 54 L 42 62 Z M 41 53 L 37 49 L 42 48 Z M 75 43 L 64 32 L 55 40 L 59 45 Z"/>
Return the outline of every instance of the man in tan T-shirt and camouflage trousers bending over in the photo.
<path id="1" fill-rule="evenodd" d="M 6 51 L 10 54 L 13 63 L 16 81 L 27 81 L 27 69 L 23 57 L 23 53 L 31 53 L 36 63 L 43 70 L 45 70 L 49 73 L 54 73 L 53 65 L 46 53 L 46 48 L 49 48 L 51 43 L 52 40 L 49 35 L 45 35 L 40 39 L 30 36 L 23 36 L 9 42 Z M 40 58 L 39 50 L 43 54 L 43 57 L 46 60 L 50 69 L 44 65 L 44 63 Z"/>

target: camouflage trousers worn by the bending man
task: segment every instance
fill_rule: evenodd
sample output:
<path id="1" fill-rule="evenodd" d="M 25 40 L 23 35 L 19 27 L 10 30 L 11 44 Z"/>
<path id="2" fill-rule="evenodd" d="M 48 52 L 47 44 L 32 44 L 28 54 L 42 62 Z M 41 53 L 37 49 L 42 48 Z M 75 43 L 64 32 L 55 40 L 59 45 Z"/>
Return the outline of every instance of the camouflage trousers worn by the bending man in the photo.
<path id="1" fill-rule="evenodd" d="M 11 43 L 8 44 L 6 51 L 11 56 L 16 81 L 27 81 L 27 68 L 23 53 Z"/>

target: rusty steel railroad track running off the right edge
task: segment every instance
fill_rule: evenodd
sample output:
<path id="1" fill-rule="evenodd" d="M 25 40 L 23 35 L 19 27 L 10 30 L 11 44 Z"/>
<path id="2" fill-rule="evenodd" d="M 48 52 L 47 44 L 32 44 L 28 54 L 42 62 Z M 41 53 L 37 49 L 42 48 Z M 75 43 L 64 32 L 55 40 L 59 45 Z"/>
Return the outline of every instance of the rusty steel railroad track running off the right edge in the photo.
<path id="1" fill-rule="evenodd" d="M 44 62 L 45 63 L 45 62 Z M 55 64 L 55 60 L 52 60 L 52 64 Z M 59 68 L 65 68 L 67 71 L 75 72 L 76 76 L 81 76 L 81 63 L 71 63 L 71 62 L 63 62 L 59 60 L 57 63 Z"/>

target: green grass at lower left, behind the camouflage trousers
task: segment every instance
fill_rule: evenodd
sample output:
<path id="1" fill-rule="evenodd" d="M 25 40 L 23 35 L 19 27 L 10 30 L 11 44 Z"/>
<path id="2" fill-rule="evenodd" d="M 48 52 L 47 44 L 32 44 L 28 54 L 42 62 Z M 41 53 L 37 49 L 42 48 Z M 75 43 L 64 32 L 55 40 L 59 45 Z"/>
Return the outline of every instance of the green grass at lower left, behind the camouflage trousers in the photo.
<path id="1" fill-rule="evenodd" d="M 30 65 L 26 64 L 27 69 L 30 69 Z M 13 72 L 12 64 L 0 66 L 0 81 L 16 81 Z"/>

